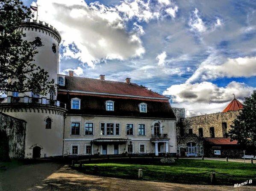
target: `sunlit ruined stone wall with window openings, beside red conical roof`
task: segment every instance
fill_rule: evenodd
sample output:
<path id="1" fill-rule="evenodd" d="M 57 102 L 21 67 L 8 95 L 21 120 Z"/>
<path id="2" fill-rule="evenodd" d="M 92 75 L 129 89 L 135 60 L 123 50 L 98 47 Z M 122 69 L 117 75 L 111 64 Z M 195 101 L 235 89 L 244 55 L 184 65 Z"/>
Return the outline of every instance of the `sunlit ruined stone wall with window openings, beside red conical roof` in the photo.
<path id="1" fill-rule="evenodd" d="M 230 131 L 233 120 L 239 114 L 238 111 L 219 112 L 214 114 L 206 114 L 195 117 L 188 117 L 180 119 L 180 128 L 185 134 L 192 129 L 193 134 L 199 135 L 199 128 L 203 128 L 203 137 L 210 137 L 210 127 L 214 127 L 215 137 L 226 137 L 226 133 Z M 227 128 L 225 124 L 227 123 Z"/>

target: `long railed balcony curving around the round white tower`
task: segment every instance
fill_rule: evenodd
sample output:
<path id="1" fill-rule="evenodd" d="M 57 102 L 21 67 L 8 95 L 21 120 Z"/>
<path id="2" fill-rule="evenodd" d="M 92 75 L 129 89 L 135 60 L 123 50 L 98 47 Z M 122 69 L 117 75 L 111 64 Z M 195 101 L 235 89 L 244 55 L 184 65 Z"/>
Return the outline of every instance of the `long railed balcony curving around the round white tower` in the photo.
<path id="1" fill-rule="evenodd" d="M 61 103 L 58 100 L 49 100 L 44 97 L 38 98 L 38 97 L 12 97 L 12 96 L 7 96 L 0 98 L 0 104 L 29 104 L 29 105 L 51 105 L 51 106 L 56 106 L 60 108 L 66 108 L 65 103 Z"/>

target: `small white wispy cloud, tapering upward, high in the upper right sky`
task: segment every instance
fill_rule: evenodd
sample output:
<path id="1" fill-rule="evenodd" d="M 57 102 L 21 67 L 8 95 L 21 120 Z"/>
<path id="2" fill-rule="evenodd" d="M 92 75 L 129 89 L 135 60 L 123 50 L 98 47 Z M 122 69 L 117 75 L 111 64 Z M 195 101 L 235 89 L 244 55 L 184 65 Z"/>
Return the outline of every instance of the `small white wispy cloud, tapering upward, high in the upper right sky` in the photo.
<path id="1" fill-rule="evenodd" d="M 193 11 L 193 16 L 190 18 L 188 25 L 191 27 L 191 31 L 205 32 L 206 26 L 203 20 L 198 15 L 198 10 Z"/>

